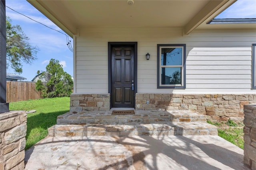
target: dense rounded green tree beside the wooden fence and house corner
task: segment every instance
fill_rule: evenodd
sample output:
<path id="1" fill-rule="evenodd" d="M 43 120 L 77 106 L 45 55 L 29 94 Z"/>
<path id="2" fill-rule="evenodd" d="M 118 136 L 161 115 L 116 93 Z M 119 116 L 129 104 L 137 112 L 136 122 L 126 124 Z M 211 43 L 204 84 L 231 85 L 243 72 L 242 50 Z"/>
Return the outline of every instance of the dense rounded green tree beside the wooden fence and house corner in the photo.
<path id="1" fill-rule="evenodd" d="M 36 90 L 41 92 L 43 98 L 70 96 L 73 89 L 71 76 L 64 72 L 58 60 L 51 59 L 36 82 Z"/>

